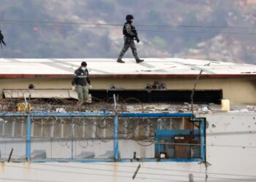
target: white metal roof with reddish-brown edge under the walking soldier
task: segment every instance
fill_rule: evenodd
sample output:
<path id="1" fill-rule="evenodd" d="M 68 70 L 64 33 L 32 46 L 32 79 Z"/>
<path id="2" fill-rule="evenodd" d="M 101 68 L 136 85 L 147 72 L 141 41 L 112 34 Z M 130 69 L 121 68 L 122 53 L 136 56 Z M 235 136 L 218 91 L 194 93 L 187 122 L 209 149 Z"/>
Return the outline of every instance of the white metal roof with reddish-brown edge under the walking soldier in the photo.
<path id="1" fill-rule="evenodd" d="M 0 59 L 0 78 L 70 77 L 81 61 L 86 61 L 92 77 L 256 77 L 256 65 L 180 58 L 146 58 L 143 63 L 124 59 Z"/>

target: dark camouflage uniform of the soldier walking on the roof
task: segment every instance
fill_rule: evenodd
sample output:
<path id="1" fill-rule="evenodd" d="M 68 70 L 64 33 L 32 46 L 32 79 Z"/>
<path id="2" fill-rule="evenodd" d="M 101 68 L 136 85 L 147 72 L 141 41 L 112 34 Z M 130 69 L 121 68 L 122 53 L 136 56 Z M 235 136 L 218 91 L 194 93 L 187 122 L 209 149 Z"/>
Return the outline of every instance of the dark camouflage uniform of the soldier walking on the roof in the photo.
<path id="1" fill-rule="evenodd" d="M 135 46 L 135 42 L 133 40 L 134 38 L 138 39 L 138 34 L 131 22 L 127 21 L 126 23 L 124 23 L 123 34 L 124 34 L 124 47 L 119 54 L 118 60 L 121 60 L 121 58 L 123 58 L 124 53 L 127 52 L 129 47 L 131 47 L 132 49 L 132 55 L 134 56 L 134 58 L 138 60 L 139 59 L 138 53 Z"/>

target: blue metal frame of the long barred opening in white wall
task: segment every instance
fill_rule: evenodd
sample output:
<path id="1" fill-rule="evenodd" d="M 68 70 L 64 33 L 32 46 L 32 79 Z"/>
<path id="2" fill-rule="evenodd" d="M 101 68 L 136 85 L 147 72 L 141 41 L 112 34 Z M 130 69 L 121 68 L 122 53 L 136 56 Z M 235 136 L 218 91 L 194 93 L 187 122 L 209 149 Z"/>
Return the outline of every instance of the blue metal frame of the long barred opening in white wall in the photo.
<path id="1" fill-rule="evenodd" d="M 192 113 L 0 113 L 0 116 L 26 116 L 26 159 L 31 162 L 133 162 L 133 159 L 119 159 L 118 150 L 118 116 L 122 117 L 190 117 L 194 121 L 200 122 L 200 141 L 201 141 L 201 157 L 200 159 L 140 159 L 140 162 L 200 162 L 206 160 L 206 125 L 204 119 L 195 119 Z M 45 116 L 62 116 L 62 117 L 75 117 L 75 116 L 112 116 L 114 118 L 114 159 L 31 159 L 31 116 L 45 117 Z M 163 132 L 163 130 L 162 130 Z M 184 131 L 189 132 L 189 131 Z M 196 131 L 197 132 L 197 131 Z M 198 132 L 199 134 L 199 132 Z"/>

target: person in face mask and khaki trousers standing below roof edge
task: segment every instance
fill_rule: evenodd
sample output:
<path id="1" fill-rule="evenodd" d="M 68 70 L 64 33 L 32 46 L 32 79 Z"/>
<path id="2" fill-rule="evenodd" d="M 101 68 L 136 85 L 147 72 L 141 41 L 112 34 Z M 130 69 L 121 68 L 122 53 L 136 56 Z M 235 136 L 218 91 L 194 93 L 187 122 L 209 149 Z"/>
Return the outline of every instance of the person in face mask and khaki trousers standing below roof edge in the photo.
<path id="1" fill-rule="evenodd" d="M 91 80 L 89 79 L 89 71 L 86 68 L 87 63 L 83 61 L 81 66 L 75 71 L 72 80 L 72 90 L 78 93 L 78 105 L 82 105 L 89 97 L 89 89 L 91 89 Z M 89 87 L 86 86 L 89 83 Z"/>

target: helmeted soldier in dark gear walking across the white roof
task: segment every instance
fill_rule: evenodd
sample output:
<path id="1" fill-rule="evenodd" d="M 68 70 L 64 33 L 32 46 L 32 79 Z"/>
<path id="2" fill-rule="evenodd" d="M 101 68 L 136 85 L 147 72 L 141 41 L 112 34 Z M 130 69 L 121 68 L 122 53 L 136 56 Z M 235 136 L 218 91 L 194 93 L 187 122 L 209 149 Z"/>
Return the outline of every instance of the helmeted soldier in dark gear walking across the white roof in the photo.
<path id="1" fill-rule="evenodd" d="M 141 63 L 144 60 L 140 60 L 140 58 L 138 57 L 137 49 L 134 42 L 134 39 L 137 41 L 137 43 L 140 42 L 135 26 L 132 25 L 134 17 L 132 15 L 127 15 L 126 20 L 127 22 L 124 23 L 123 27 L 124 47 L 119 54 L 117 63 L 124 63 L 124 60 L 121 59 L 123 58 L 124 53 L 127 52 L 127 50 L 129 49 L 129 47 L 131 47 L 132 49 L 132 55 L 134 56 L 136 63 Z"/>

